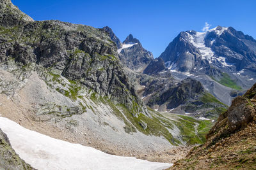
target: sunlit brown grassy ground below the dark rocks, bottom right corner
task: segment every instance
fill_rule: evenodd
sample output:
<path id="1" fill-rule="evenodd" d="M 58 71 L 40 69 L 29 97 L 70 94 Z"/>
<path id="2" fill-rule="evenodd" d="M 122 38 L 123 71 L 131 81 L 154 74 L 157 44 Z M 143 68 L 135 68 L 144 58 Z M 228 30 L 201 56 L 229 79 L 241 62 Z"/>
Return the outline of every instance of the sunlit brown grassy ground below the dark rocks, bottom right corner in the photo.
<path id="1" fill-rule="evenodd" d="M 170 169 L 256 169 L 256 120 L 209 148 L 191 149 Z"/>

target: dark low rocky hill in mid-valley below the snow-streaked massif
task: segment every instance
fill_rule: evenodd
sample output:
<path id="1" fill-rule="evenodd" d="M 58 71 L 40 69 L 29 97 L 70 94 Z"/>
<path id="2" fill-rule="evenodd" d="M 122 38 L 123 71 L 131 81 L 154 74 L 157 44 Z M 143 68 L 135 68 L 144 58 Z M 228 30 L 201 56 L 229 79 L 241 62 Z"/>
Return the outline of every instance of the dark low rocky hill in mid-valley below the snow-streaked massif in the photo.
<path id="1" fill-rule="evenodd" d="M 163 79 L 163 78 L 162 78 Z M 165 79 L 166 81 L 167 79 Z M 145 81 L 143 101 L 158 111 L 186 113 L 196 118 L 216 119 L 227 106 L 204 89 L 200 81 L 186 78 L 168 84 L 161 81 Z"/>

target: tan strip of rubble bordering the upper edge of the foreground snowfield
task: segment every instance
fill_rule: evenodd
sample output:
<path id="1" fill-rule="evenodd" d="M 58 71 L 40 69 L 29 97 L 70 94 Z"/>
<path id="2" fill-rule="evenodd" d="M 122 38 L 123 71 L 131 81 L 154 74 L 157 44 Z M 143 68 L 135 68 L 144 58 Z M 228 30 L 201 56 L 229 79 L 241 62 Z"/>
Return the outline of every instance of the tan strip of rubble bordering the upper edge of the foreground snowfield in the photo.
<path id="1" fill-rule="evenodd" d="M 97 148 L 98 150 L 114 155 L 124 155 L 136 157 L 138 159 L 172 163 L 184 157 L 191 148 L 190 146 L 173 146 L 172 148 L 166 148 L 166 150 L 157 151 L 156 148 L 150 148 L 150 146 L 148 146 L 147 150 L 141 148 L 137 148 L 135 150 L 134 148 L 127 147 L 125 143 L 120 143 L 121 146 L 118 146 L 111 141 L 106 141 L 106 139 L 100 139 L 97 137 L 97 134 L 92 131 L 84 132 L 84 134 L 76 134 L 70 132 L 68 129 L 61 129 L 57 125 L 54 126 L 51 122 L 38 122 L 35 120 L 33 112 L 27 111 L 31 106 L 20 106 L 18 103 L 15 104 L 15 100 L 8 100 L 3 94 L 0 95 L 0 101 L 1 116 L 10 118 L 10 120 L 18 122 L 27 129 L 71 143 L 80 143 L 85 146 L 92 146 L 93 148 Z M 25 109 L 24 107 L 27 108 Z M 28 110 L 33 110 L 33 108 Z"/>

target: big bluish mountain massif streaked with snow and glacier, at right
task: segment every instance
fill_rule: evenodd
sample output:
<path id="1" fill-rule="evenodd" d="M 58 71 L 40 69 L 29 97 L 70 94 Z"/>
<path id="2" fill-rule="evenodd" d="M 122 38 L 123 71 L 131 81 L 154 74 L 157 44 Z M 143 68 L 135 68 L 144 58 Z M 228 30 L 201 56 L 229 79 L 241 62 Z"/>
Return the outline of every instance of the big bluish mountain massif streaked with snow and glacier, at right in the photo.
<path id="1" fill-rule="evenodd" d="M 232 27 L 186 31 L 180 32 L 160 57 L 175 78 L 194 78 L 230 105 L 234 94 L 243 94 L 256 80 L 255 42 Z"/>

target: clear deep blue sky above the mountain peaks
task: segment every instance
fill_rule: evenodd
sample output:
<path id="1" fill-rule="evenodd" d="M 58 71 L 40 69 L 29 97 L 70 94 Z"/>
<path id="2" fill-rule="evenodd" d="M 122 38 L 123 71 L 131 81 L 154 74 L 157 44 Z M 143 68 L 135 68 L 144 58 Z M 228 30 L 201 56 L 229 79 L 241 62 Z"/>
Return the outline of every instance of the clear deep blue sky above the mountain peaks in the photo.
<path id="1" fill-rule="evenodd" d="M 12 0 L 34 20 L 61 20 L 74 24 L 108 25 L 124 41 L 128 34 L 140 39 L 147 50 L 159 57 L 180 31 L 201 31 L 205 22 L 212 27 L 232 26 L 256 38 L 255 0 Z"/>

